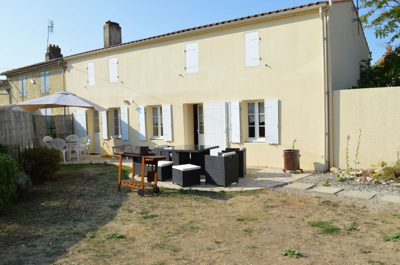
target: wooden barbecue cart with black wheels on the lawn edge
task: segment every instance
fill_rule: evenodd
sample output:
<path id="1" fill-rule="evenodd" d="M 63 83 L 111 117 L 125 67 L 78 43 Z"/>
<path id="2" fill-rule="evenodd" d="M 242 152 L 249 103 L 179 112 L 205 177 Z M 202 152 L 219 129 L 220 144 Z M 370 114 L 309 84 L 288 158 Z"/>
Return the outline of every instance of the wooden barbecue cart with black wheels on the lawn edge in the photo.
<path id="1" fill-rule="evenodd" d="M 165 160 L 165 156 L 155 156 L 148 152 L 147 146 L 124 146 L 123 152 L 114 152 L 114 156 L 119 158 L 118 168 L 118 191 L 122 186 L 138 189 L 137 195 L 144 195 L 144 187 L 152 187 L 154 193 L 159 192 L 157 187 L 157 165 L 159 160 Z M 132 157 L 132 179 L 121 180 L 122 157 Z M 134 158 L 141 158 L 141 179 L 134 179 Z M 147 182 L 144 183 L 144 172 L 147 171 Z"/>

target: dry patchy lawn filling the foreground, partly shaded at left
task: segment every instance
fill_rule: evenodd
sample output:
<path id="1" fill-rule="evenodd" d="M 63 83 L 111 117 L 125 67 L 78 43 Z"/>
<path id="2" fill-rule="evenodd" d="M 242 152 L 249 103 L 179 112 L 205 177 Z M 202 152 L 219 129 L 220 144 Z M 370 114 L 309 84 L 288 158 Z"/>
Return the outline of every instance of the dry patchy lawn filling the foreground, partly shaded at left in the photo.
<path id="1" fill-rule="evenodd" d="M 124 168 L 125 178 L 129 172 Z M 64 165 L 0 217 L 0 263 L 398 264 L 390 209 L 372 212 L 269 189 L 237 193 L 116 187 L 113 165 Z M 395 237 L 394 237 L 395 239 Z M 362 251 L 360 251 L 362 250 Z"/>

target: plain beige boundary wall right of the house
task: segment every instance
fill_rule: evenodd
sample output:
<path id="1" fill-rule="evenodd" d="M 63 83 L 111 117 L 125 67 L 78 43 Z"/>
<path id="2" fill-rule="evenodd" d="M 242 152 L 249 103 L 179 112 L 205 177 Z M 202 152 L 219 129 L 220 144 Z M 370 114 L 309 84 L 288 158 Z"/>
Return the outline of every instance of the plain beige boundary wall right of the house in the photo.
<path id="1" fill-rule="evenodd" d="M 346 167 L 346 136 L 350 135 L 349 161 L 354 167 L 358 129 L 362 130 L 359 168 L 378 161 L 391 164 L 400 151 L 400 87 L 333 91 L 334 166 Z"/>

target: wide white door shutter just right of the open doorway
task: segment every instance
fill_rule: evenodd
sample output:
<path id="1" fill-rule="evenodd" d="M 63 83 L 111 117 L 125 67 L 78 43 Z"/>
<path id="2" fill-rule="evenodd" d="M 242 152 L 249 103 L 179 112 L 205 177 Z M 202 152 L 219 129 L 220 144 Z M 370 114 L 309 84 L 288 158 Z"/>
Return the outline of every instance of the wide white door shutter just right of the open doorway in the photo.
<path id="1" fill-rule="evenodd" d="M 211 155 L 226 148 L 226 104 L 225 102 L 206 102 L 203 104 L 205 145 L 218 145 L 211 149 Z"/>

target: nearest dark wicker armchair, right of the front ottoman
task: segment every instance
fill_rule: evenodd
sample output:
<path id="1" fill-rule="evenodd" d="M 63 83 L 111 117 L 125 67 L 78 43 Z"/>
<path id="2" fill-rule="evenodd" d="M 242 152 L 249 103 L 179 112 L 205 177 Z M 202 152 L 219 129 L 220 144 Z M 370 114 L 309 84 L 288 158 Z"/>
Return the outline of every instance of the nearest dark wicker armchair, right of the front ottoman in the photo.
<path id="1" fill-rule="evenodd" d="M 234 152 L 205 156 L 205 184 L 229 186 L 239 182 L 238 155 Z"/>

